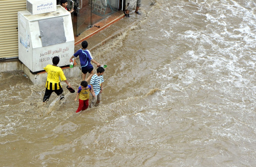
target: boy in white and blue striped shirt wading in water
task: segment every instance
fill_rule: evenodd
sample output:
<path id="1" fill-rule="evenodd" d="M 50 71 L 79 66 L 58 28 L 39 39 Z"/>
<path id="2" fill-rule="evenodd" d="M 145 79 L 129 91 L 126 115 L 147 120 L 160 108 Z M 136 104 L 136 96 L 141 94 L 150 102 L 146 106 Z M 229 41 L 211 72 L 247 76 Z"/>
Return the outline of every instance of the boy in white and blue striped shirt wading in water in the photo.
<path id="1" fill-rule="evenodd" d="M 91 78 L 90 85 L 92 87 L 92 92 L 95 93 L 95 97 L 92 97 L 92 101 L 90 107 L 94 106 L 94 104 L 100 103 L 101 100 L 101 92 L 103 91 L 102 83 L 104 82 L 103 74 L 105 69 L 103 67 L 97 68 L 97 73 L 94 74 Z"/>

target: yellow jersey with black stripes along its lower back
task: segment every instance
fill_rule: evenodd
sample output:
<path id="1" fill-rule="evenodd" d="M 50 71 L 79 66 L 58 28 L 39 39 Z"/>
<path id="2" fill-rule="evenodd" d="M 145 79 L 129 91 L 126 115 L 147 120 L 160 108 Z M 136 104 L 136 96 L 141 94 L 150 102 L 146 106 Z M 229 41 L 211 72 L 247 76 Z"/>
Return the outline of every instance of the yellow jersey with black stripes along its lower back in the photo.
<path id="1" fill-rule="evenodd" d="M 44 70 L 47 72 L 47 81 L 45 83 L 45 87 L 48 90 L 60 89 L 61 88 L 60 79 L 61 81 L 66 80 L 66 77 L 62 69 L 58 66 L 53 66 L 48 64 L 46 67 L 44 67 Z"/>

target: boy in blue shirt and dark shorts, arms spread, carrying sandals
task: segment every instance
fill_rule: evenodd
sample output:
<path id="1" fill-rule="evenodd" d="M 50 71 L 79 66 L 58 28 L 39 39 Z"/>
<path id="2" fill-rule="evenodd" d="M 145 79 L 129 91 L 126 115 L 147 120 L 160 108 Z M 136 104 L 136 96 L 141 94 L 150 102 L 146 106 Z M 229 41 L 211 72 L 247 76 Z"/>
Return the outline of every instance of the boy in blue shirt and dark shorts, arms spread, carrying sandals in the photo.
<path id="1" fill-rule="evenodd" d="M 89 82 L 92 78 L 94 72 L 93 72 L 93 66 L 91 64 L 91 61 L 97 65 L 97 67 L 100 67 L 100 64 L 97 63 L 93 58 L 91 52 L 87 49 L 88 43 L 87 41 L 82 42 L 82 49 L 79 49 L 69 60 L 69 62 L 72 62 L 74 57 L 79 56 L 80 64 L 82 68 L 82 81 L 85 80 L 87 72 L 89 73 L 89 76 L 85 81 Z"/>

